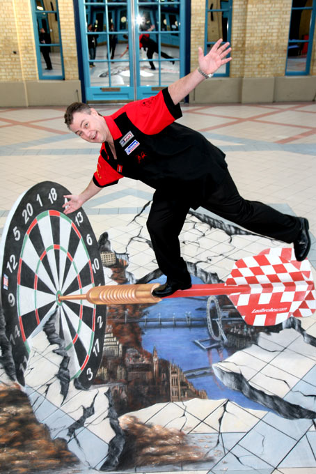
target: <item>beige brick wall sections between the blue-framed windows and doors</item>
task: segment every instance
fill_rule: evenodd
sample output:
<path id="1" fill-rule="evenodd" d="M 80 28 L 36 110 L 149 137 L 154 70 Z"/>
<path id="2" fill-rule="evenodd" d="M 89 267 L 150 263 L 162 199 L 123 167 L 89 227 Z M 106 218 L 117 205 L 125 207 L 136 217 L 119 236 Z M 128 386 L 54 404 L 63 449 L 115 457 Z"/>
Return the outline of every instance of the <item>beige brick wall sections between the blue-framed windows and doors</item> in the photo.
<path id="1" fill-rule="evenodd" d="M 232 5 L 230 77 L 284 76 L 292 0 L 233 0 Z M 77 81 L 72 0 L 58 0 L 58 7 L 65 81 Z M 191 70 L 204 41 L 205 0 L 191 0 Z M 2 83 L 38 81 L 31 0 L 0 0 L 0 64 Z M 310 75 L 316 75 L 316 34 Z"/>

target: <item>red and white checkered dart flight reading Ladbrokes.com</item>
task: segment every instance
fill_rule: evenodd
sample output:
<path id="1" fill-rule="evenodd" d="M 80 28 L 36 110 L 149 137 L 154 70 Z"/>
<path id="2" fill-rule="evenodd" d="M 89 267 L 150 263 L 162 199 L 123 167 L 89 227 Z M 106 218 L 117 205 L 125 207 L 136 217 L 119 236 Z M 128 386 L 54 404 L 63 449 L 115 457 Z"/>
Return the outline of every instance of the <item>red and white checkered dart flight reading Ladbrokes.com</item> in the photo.
<path id="1" fill-rule="evenodd" d="M 230 300 L 252 326 L 274 326 L 290 316 L 311 316 L 316 309 L 310 263 L 297 261 L 291 248 L 237 261 L 226 284 L 248 285 L 246 293 L 230 294 Z"/>

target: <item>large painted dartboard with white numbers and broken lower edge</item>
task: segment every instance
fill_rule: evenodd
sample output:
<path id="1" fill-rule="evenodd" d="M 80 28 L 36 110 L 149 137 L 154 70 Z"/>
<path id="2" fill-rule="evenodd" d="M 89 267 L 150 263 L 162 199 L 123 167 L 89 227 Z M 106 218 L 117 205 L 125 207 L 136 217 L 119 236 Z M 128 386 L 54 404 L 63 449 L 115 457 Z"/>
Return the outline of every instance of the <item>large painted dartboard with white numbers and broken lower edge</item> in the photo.
<path id="1" fill-rule="evenodd" d="M 65 194 L 58 183 L 33 186 L 10 211 L 1 238 L 1 300 L 17 380 L 24 370 L 32 337 L 51 316 L 70 356 L 71 379 L 88 388 L 100 365 L 106 307 L 87 300 L 58 300 L 104 284 L 95 235 L 82 208 L 63 213 Z"/>

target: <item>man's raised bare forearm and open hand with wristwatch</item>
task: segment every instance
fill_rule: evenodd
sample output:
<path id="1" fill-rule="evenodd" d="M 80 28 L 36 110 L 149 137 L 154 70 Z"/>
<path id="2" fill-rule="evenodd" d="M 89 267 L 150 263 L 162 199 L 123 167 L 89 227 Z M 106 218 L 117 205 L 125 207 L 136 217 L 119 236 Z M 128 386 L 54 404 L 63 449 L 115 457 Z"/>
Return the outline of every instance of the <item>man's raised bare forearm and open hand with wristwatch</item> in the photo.
<path id="1" fill-rule="evenodd" d="M 200 47 L 198 48 L 198 66 L 200 70 L 205 72 L 205 74 L 214 74 L 214 72 L 223 66 L 223 64 L 230 61 L 231 58 L 226 56 L 230 53 L 232 48 L 229 47 L 229 43 L 221 45 L 222 41 L 222 39 L 218 40 L 206 56 L 203 54 L 203 49 Z M 204 80 L 205 78 L 203 75 L 195 69 L 187 76 L 173 82 L 173 84 L 168 86 L 168 91 L 173 103 L 179 103 Z"/>

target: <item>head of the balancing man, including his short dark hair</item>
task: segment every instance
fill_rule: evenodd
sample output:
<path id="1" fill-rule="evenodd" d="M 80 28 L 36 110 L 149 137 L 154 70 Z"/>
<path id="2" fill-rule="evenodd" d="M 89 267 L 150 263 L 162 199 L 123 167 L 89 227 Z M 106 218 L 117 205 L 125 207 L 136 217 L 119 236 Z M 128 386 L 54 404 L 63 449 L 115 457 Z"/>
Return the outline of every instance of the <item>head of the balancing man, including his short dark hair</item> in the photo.
<path id="1" fill-rule="evenodd" d="M 102 115 L 83 102 L 73 102 L 67 107 L 65 124 L 86 142 L 103 143 L 111 139 L 109 128 Z"/>

